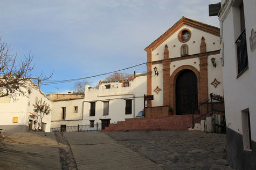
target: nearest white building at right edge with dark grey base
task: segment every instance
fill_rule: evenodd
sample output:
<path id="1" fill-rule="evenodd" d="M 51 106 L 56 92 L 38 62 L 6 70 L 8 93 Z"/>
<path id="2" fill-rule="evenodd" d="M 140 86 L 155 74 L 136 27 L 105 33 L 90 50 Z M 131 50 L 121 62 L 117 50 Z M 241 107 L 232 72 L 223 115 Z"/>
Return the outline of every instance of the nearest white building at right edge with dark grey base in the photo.
<path id="1" fill-rule="evenodd" d="M 219 11 L 227 161 L 256 169 L 256 1 L 222 0 Z"/>

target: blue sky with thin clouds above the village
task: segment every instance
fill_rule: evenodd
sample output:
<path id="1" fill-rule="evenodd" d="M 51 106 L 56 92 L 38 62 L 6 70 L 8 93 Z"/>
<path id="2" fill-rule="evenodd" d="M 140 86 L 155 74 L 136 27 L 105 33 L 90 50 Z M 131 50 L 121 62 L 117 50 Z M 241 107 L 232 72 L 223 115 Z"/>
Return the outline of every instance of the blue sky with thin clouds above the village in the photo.
<path id="1" fill-rule="evenodd" d="M 0 35 L 18 61 L 33 54 L 33 75 L 74 79 L 144 63 L 144 51 L 182 16 L 219 27 L 208 16 L 216 0 L 0 0 Z M 146 65 L 123 72 L 146 70 Z M 106 76 L 87 79 L 91 86 Z M 67 93 L 74 82 L 43 85 Z"/>

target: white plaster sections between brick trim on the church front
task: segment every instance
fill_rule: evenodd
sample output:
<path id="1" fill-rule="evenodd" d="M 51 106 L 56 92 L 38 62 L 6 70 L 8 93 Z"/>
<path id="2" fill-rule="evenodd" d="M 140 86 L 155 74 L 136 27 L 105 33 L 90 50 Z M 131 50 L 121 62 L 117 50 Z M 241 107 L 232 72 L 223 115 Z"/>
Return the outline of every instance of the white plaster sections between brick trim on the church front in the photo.
<path id="1" fill-rule="evenodd" d="M 178 40 L 178 33 L 184 28 L 188 28 L 191 31 L 191 38 L 188 42 L 182 43 Z M 183 27 L 179 28 L 178 31 L 176 31 L 174 34 L 170 36 L 167 40 L 165 40 L 160 46 L 158 46 L 153 52 L 152 52 L 152 61 L 158 61 L 163 60 L 164 58 L 164 48 L 165 45 L 168 45 L 170 58 L 176 58 L 181 57 L 181 46 L 183 44 L 188 45 L 189 47 L 189 55 L 192 54 L 199 54 L 200 53 L 200 43 L 202 36 L 205 38 L 206 43 L 206 51 L 215 51 L 220 49 L 220 40 L 219 36 L 212 35 L 209 33 L 206 33 L 204 31 L 200 31 L 199 29 L 184 25 Z M 195 43 L 193 42 L 195 41 Z M 213 44 L 214 43 L 214 44 Z M 175 47 L 174 47 L 175 45 Z M 212 66 L 211 58 L 216 58 L 216 68 Z M 195 63 L 196 62 L 196 63 Z M 222 77 L 222 61 L 220 60 L 220 55 L 211 55 L 208 56 L 208 93 L 216 93 L 219 95 L 223 95 L 223 77 Z M 175 61 L 170 63 L 170 76 L 172 73 L 179 68 L 179 66 L 182 65 L 191 65 L 195 67 L 198 71 L 200 71 L 200 61 L 199 58 L 191 58 L 187 60 L 181 60 L 181 61 Z M 175 66 L 174 66 L 175 65 Z M 157 67 L 157 71 L 159 73 L 158 76 L 155 75 L 154 68 Z M 163 106 L 163 65 L 162 64 L 153 64 L 152 65 L 152 92 L 154 94 L 154 100 L 152 106 Z M 211 83 L 214 79 L 217 79 L 221 84 L 215 88 Z M 156 87 L 159 87 L 162 89 L 158 94 L 154 92 Z"/>

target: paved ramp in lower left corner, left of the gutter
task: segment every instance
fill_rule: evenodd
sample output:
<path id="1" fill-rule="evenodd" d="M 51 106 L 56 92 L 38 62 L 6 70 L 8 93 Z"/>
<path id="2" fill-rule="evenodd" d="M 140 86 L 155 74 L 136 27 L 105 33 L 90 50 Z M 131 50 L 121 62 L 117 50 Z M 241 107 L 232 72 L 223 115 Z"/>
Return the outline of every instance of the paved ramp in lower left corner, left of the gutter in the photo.
<path id="1" fill-rule="evenodd" d="M 0 169 L 61 169 L 54 133 L 24 132 L 4 135 Z"/>

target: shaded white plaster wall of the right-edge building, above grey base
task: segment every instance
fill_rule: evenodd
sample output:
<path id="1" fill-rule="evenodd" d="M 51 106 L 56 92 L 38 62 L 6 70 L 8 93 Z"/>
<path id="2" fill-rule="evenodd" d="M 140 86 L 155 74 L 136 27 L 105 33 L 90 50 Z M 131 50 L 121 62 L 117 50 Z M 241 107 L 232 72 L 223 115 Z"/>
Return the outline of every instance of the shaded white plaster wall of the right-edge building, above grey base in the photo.
<path id="1" fill-rule="evenodd" d="M 225 95 L 225 114 L 226 125 L 230 129 L 243 135 L 241 111 L 249 109 L 251 119 L 251 137 L 256 141 L 256 50 L 250 49 L 250 36 L 252 28 L 256 31 L 255 20 L 255 1 L 244 1 L 246 43 L 248 53 L 248 70 L 240 77 L 237 77 L 236 43 L 240 28 L 234 16 L 234 8 L 231 8 L 229 14 L 223 21 L 223 42 L 224 49 L 224 95 Z M 254 11 L 254 12 L 253 12 Z M 221 18 L 222 19 L 222 18 Z"/>

